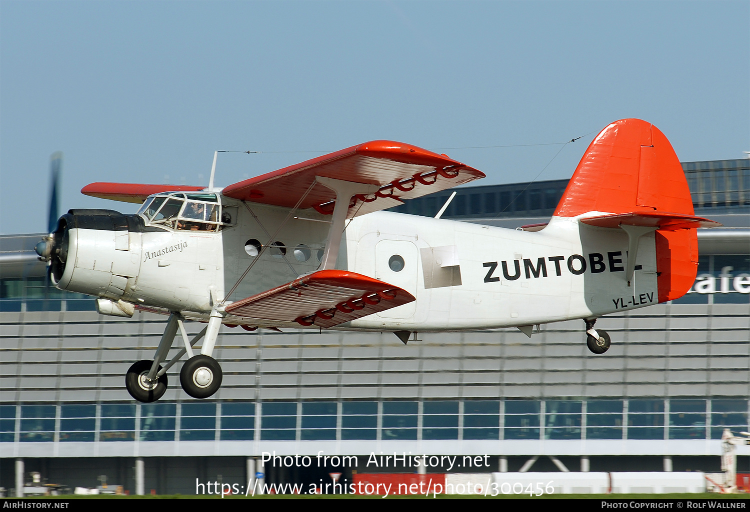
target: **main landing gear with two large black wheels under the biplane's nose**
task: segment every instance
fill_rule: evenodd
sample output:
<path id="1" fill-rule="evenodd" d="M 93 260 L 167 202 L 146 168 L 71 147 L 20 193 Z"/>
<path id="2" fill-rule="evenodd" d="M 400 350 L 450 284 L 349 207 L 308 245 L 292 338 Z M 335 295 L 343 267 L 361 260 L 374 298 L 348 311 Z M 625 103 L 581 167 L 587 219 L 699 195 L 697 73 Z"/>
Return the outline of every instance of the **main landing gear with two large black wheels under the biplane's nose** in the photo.
<path id="1" fill-rule="evenodd" d="M 221 315 L 213 311 L 208 318 L 208 325 L 192 340 L 188 340 L 182 316 L 179 313 L 172 313 L 156 349 L 154 361 L 148 359 L 138 361 L 130 367 L 130 370 L 127 370 L 125 376 L 127 392 L 139 402 L 148 403 L 159 400 L 166 392 L 166 370 L 169 370 L 185 354 L 189 359 L 180 371 L 180 385 L 184 392 L 193 398 L 208 398 L 219 391 L 222 379 L 221 367 L 211 357 L 211 353 L 214 351 L 220 327 Z M 184 348 L 162 367 L 161 364 L 166 360 L 178 329 L 182 335 Z M 193 355 L 193 345 L 202 337 L 205 337 L 205 340 L 200 354 Z"/>

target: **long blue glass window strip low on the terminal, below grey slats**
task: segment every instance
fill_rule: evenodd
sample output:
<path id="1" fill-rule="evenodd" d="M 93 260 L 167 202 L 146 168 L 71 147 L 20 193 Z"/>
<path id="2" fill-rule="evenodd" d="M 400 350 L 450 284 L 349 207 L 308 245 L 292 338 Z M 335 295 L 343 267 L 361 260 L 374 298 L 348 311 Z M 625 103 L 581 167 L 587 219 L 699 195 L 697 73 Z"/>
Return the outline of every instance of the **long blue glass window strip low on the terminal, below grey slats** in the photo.
<path id="1" fill-rule="evenodd" d="M 371 439 L 721 439 L 748 430 L 748 400 L 393 400 L 0 406 L 2 442 Z M 381 409 L 381 412 L 378 412 Z M 419 412 L 422 409 L 422 412 Z M 501 414 L 501 410 L 505 413 Z M 463 412 L 462 412 L 463 411 Z M 625 418 L 625 422 L 623 422 Z M 99 424 L 97 428 L 96 425 Z M 378 428 L 377 425 L 382 427 Z M 505 428 L 500 429 L 500 424 Z M 338 428 L 337 425 L 341 425 Z M 626 426 L 626 427 L 625 427 Z M 502 432 L 502 437 L 500 433 Z"/>

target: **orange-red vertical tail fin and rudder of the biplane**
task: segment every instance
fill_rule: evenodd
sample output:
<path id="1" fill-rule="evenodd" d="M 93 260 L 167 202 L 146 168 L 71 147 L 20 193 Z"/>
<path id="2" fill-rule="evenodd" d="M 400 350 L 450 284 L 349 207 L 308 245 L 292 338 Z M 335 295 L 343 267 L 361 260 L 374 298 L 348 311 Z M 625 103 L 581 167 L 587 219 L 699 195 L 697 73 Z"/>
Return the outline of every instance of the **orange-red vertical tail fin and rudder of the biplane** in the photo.
<path id="1" fill-rule="evenodd" d="M 682 297 L 697 272 L 697 226 L 693 204 L 672 145 L 657 127 L 640 119 L 615 121 L 594 138 L 580 159 L 555 210 L 556 217 L 589 211 L 595 226 L 654 226 L 658 301 Z"/>

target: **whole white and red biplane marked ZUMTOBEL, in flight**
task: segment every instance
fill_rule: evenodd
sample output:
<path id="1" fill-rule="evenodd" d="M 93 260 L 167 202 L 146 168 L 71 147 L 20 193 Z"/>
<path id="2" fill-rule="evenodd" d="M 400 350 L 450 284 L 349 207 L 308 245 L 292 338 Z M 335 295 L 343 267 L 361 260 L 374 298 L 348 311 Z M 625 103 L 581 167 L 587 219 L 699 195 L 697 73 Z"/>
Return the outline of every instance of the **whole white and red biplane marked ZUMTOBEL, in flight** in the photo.
<path id="1" fill-rule="evenodd" d="M 214 154 L 214 169 L 216 158 Z M 681 297 L 697 271 L 696 217 L 682 167 L 652 124 L 616 121 L 586 149 L 550 222 L 524 230 L 382 211 L 482 178 L 401 142 L 365 142 L 228 187 L 94 183 L 89 196 L 142 203 L 136 214 L 68 211 L 40 244 L 52 283 L 98 297 L 98 311 L 169 315 L 153 361 L 125 379 L 141 402 L 166 371 L 205 398 L 221 384 L 221 324 L 410 334 L 598 317 Z M 183 322 L 205 322 L 190 339 Z M 166 356 L 181 334 L 184 347 Z M 202 341 L 199 354 L 193 345 Z M 163 364 L 163 366 L 162 366 Z"/>

